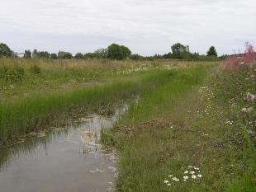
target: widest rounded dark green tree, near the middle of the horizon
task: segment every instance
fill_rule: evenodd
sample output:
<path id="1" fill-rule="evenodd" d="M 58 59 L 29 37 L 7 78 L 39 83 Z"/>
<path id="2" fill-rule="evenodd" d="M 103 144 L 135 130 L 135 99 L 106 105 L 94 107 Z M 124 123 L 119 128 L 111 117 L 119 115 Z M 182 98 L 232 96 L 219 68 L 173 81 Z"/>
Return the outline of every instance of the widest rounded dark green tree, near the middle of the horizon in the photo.
<path id="1" fill-rule="evenodd" d="M 131 51 L 124 45 L 111 44 L 107 47 L 108 59 L 122 60 L 130 57 Z"/>

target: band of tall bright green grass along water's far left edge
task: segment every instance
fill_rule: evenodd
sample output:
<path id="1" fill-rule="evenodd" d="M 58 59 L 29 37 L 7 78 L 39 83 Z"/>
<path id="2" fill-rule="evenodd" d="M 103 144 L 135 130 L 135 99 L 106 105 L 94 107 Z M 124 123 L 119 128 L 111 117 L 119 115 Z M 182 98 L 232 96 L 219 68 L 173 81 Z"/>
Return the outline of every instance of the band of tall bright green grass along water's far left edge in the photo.
<path id="1" fill-rule="evenodd" d="M 162 73 L 154 71 L 124 82 L 3 101 L 0 103 L 0 144 L 15 142 L 21 134 L 38 131 L 55 119 L 64 121 L 72 110 L 99 109 L 102 105 L 139 94 Z"/>

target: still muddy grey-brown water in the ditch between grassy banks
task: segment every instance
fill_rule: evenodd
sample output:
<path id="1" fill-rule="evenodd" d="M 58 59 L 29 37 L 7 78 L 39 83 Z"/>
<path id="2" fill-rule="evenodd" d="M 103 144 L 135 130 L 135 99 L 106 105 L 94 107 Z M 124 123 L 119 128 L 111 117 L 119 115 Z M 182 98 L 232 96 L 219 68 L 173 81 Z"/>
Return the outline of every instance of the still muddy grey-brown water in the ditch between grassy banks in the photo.
<path id="1" fill-rule="evenodd" d="M 116 153 L 98 143 L 100 130 L 115 124 L 127 106 L 111 118 L 91 115 L 67 129 L 55 129 L 0 150 L 1 192 L 111 191 L 117 176 Z"/>

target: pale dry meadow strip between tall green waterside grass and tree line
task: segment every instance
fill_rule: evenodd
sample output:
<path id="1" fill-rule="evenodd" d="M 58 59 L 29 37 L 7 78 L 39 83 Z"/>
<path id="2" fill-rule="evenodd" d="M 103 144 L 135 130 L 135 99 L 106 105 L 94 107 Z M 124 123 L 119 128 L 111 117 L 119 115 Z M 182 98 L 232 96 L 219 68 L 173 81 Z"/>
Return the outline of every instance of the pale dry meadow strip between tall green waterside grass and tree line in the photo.
<path id="1" fill-rule="evenodd" d="M 156 68 L 178 68 L 197 63 L 172 60 L 0 59 L 0 101 L 38 92 L 45 94 L 120 82 Z"/>

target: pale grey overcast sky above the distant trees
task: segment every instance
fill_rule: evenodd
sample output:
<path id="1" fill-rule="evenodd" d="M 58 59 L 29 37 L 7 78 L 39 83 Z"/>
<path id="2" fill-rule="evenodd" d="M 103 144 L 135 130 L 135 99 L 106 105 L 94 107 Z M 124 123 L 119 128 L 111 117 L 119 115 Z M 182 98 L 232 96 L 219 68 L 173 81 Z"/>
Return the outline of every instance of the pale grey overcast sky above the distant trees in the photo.
<path id="1" fill-rule="evenodd" d="M 0 42 L 17 52 L 92 52 L 125 44 L 165 54 L 188 44 L 219 54 L 256 44 L 256 0 L 0 0 Z"/>

